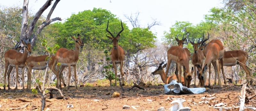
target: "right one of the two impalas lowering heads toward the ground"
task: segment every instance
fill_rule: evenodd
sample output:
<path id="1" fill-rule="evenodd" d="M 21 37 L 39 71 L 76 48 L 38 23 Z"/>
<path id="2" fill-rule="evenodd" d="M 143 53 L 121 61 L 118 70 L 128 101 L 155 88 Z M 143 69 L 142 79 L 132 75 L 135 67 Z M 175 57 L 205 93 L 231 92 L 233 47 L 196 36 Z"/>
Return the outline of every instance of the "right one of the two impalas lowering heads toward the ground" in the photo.
<path id="1" fill-rule="evenodd" d="M 208 33 L 208 39 L 209 39 L 209 33 Z M 206 40 L 208 40 L 208 39 L 206 39 Z M 203 85 L 201 84 L 201 86 L 204 86 L 205 82 L 206 82 L 205 71 L 207 70 L 207 64 L 210 65 L 212 63 L 212 65 L 214 67 L 214 71 L 215 71 L 215 76 L 217 76 L 217 74 L 218 74 L 218 84 L 220 85 L 220 87 L 223 87 L 222 83 L 221 83 L 221 79 L 220 79 L 219 60 L 222 62 L 222 65 L 223 65 L 224 47 L 223 47 L 222 43 L 220 42 L 220 40 L 212 40 L 207 45 L 205 45 L 205 47 L 206 47 L 205 48 L 206 57 L 204 60 L 204 68 L 199 72 L 199 77 L 204 82 L 204 84 Z M 221 66 L 221 69 L 223 69 L 223 66 Z M 210 76 L 211 75 L 209 75 L 209 78 L 210 78 Z M 224 73 L 223 73 L 223 76 L 224 76 L 224 78 L 226 78 Z M 214 80 L 214 83 L 216 83 L 216 80 Z M 209 79 L 208 85 L 210 86 L 210 79 Z"/>

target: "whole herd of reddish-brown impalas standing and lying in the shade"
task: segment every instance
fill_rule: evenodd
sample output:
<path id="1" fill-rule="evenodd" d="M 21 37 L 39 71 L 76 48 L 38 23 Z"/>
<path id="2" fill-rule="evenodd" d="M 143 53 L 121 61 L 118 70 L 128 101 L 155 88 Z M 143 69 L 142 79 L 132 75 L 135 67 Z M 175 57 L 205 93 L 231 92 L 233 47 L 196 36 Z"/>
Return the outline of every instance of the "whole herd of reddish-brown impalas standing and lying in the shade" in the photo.
<path id="1" fill-rule="evenodd" d="M 106 31 L 111 35 L 107 36 L 109 39 L 113 42 L 113 48 L 110 53 L 110 58 L 113 63 L 114 69 L 115 69 L 115 85 L 117 80 L 117 64 L 120 64 L 120 73 L 122 76 L 122 82 L 124 84 L 124 72 L 123 72 L 123 65 L 124 65 L 124 58 L 125 58 L 125 52 L 121 46 L 118 46 L 118 39 L 120 38 L 120 33 L 124 31 L 123 24 L 121 21 L 121 27 L 122 30 L 119 31 L 114 37 L 114 35 L 108 31 L 108 24 Z M 70 35 L 71 36 L 71 35 Z M 68 50 L 66 48 L 60 48 L 56 52 L 56 56 L 51 55 L 51 59 L 49 60 L 48 67 L 52 70 L 52 72 L 56 75 L 57 83 L 56 87 L 61 89 L 61 80 L 64 84 L 64 87 L 66 87 L 66 84 L 64 82 L 64 77 L 62 74 L 62 71 L 65 69 L 65 67 L 68 67 L 68 91 L 69 91 L 69 80 L 71 76 L 71 66 L 73 66 L 74 70 L 74 77 L 75 77 L 75 85 L 76 85 L 76 91 L 77 90 L 77 81 L 76 81 L 76 64 L 78 61 L 79 56 L 79 49 L 83 48 L 84 43 L 81 39 L 81 36 L 77 34 L 77 38 L 71 36 L 71 38 L 75 41 L 75 50 Z M 252 77 L 251 70 L 246 66 L 246 62 L 248 59 L 247 52 L 236 50 L 236 51 L 224 51 L 224 47 L 220 40 L 212 40 L 208 44 L 205 42 L 209 39 L 209 33 L 208 38 L 203 39 L 200 41 L 200 39 L 195 43 L 194 38 L 192 38 L 192 42 L 189 40 L 189 42 L 194 47 L 194 53 L 191 58 L 191 62 L 194 67 L 191 68 L 191 72 L 189 71 L 189 59 L 190 59 L 190 52 L 187 48 L 183 48 L 184 42 L 186 41 L 187 37 L 179 40 L 178 36 L 175 38 L 178 42 L 179 46 L 172 46 L 167 51 L 167 63 L 164 64 L 164 62 L 161 62 L 159 67 L 156 69 L 156 71 L 152 72 L 153 75 L 160 74 L 162 81 L 165 84 L 170 83 L 172 80 L 177 80 L 178 82 L 181 82 L 182 85 L 186 87 L 190 87 L 190 82 L 192 80 L 192 74 L 194 72 L 194 85 L 196 87 L 196 68 L 199 71 L 198 73 L 198 79 L 199 84 L 201 86 L 205 85 L 207 74 L 205 71 L 207 68 L 209 68 L 209 86 L 210 86 L 210 75 L 211 75 L 211 64 L 214 67 L 215 71 L 215 80 L 214 85 L 216 85 L 216 78 L 218 75 L 218 85 L 222 87 L 221 79 L 220 79 L 220 69 L 222 71 L 223 77 L 224 77 L 224 83 L 226 84 L 226 77 L 223 72 L 223 66 L 235 66 L 240 65 L 244 71 L 246 72 L 246 80 L 247 82 L 251 82 L 250 77 Z M 27 89 L 30 89 L 31 87 L 31 71 L 34 70 L 44 70 L 47 68 L 47 57 L 48 55 L 42 55 L 42 56 L 29 56 L 28 53 L 31 53 L 31 39 L 29 40 L 21 40 L 21 43 L 24 45 L 24 53 L 19 52 L 23 47 L 19 46 L 20 44 L 16 44 L 15 47 L 11 50 L 8 50 L 4 53 L 4 60 L 5 60 L 5 71 L 4 71 L 4 91 L 5 91 L 5 83 L 6 83 L 6 76 L 8 79 L 8 90 L 10 89 L 10 73 L 15 67 L 16 69 L 16 87 L 15 91 L 17 90 L 17 84 L 18 84 L 18 68 L 20 67 L 21 70 L 21 80 L 22 80 L 22 88 L 24 89 L 24 70 L 25 68 L 28 69 L 28 81 L 27 81 Z M 205 59 L 204 59 L 205 57 Z M 204 61 L 204 64 L 203 64 Z M 171 62 L 176 63 L 176 70 L 175 75 L 172 75 L 168 77 L 168 71 Z M 60 66 L 57 65 L 57 63 L 60 63 Z M 164 64 L 164 66 L 162 66 Z M 164 72 L 164 68 L 167 65 L 167 70 Z M 9 70 L 8 67 L 10 66 Z M 183 66 L 183 77 L 181 75 Z"/>

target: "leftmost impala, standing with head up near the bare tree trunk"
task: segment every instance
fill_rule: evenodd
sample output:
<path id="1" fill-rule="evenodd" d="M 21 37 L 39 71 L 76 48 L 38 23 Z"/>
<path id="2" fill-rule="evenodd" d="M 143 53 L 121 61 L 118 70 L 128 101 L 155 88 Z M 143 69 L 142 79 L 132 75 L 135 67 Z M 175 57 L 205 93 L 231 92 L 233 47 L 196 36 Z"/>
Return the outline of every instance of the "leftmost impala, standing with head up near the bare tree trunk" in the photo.
<path id="1" fill-rule="evenodd" d="M 30 41 L 31 39 L 29 39 L 29 41 L 26 40 L 21 40 L 22 44 L 25 46 L 25 50 L 24 53 L 20 53 L 17 52 L 15 50 L 8 50 L 4 53 L 4 91 L 5 91 L 5 80 L 6 80 L 6 74 L 7 74 L 7 70 L 8 70 L 8 66 L 10 65 L 10 72 L 12 71 L 13 67 L 15 67 L 16 69 L 16 86 L 15 86 L 15 91 L 17 92 L 17 86 L 18 86 L 18 76 L 19 76 L 19 67 L 23 67 L 26 59 L 28 58 L 28 53 L 31 53 L 31 44 Z M 9 71 L 8 71 L 9 72 Z M 8 79 L 8 90 L 10 89 L 10 73 L 7 74 L 7 79 Z M 23 91 L 25 91 L 24 89 L 24 74 L 21 75 L 21 79 L 22 79 L 22 84 L 23 84 Z"/>

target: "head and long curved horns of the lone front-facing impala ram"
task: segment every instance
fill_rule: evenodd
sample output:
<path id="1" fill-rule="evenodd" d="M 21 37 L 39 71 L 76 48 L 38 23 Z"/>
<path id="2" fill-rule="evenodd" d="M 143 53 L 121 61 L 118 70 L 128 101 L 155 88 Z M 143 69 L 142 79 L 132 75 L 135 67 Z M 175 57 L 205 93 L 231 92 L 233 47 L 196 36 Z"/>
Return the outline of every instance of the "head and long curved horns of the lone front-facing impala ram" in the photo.
<path id="1" fill-rule="evenodd" d="M 107 37 L 112 40 L 114 49 L 118 48 L 117 42 L 118 42 L 118 39 L 120 38 L 120 33 L 124 31 L 122 20 L 121 20 L 121 26 L 122 26 L 122 30 L 117 33 L 116 37 L 114 37 L 114 35 L 110 31 L 108 31 L 108 25 L 107 25 L 106 31 L 111 35 L 111 37 L 110 36 L 107 36 Z"/>

